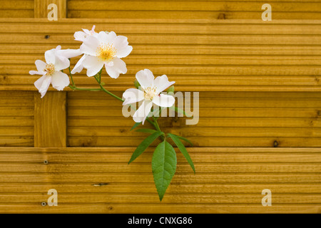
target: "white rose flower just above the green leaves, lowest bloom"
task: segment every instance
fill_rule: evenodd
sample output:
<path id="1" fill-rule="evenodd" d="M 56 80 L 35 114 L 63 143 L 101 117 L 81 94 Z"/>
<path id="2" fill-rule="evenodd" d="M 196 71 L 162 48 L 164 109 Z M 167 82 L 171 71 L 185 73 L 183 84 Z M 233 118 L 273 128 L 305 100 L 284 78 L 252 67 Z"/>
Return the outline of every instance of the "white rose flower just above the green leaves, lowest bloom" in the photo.
<path id="1" fill-rule="evenodd" d="M 141 106 L 133 115 L 133 120 L 136 123 L 145 122 L 148 114 L 151 112 L 153 103 L 160 107 L 171 107 L 175 103 L 173 95 L 161 94 L 163 90 L 172 86 L 175 81 L 168 81 L 167 76 L 158 76 L 154 79 L 153 73 L 145 69 L 136 73 L 136 79 L 141 84 L 141 90 L 129 88 L 123 93 L 123 105 L 136 103 L 143 100 Z"/>

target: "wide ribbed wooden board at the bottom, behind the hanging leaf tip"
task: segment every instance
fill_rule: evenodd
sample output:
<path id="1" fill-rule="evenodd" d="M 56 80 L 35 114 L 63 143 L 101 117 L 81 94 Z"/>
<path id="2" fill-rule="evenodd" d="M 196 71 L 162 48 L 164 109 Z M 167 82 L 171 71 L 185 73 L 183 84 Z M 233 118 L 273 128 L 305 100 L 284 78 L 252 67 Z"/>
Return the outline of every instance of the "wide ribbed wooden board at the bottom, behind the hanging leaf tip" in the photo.
<path id="1" fill-rule="evenodd" d="M 0 147 L 0 212 L 317 213 L 321 207 L 320 148 L 188 148 L 196 175 L 177 150 L 178 173 L 161 204 L 148 169 L 153 148 L 127 165 L 134 149 Z M 50 189 L 58 191 L 54 210 L 41 206 Z M 272 210 L 261 205 L 263 189 L 272 191 Z"/>

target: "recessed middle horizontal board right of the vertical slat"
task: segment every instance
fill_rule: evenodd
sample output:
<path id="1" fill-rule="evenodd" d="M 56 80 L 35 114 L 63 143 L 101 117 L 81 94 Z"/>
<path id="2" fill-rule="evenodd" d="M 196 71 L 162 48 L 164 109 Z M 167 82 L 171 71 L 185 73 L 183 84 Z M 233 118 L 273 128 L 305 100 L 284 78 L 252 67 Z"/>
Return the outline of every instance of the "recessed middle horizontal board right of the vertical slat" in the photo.
<path id="1" fill-rule="evenodd" d="M 320 93 L 201 92 L 199 99 L 199 105 L 193 106 L 193 98 L 190 102 L 200 108 L 196 125 L 175 115 L 161 118 L 161 129 L 199 147 L 321 145 Z M 133 124 L 131 117 L 123 117 L 121 102 L 108 95 L 68 93 L 70 146 L 139 145 L 146 134 L 131 131 Z"/>

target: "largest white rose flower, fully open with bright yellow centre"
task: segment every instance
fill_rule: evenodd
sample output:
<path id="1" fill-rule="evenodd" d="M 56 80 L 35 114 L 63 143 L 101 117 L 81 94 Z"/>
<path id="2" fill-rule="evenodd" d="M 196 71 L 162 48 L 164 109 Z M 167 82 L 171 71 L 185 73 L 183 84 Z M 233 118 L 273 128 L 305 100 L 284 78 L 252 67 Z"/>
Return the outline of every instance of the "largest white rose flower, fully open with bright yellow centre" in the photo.
<path id="1" fill-rule="evenodd" d="M 87 69 L 87 76 L 95 76 L 103 66 L 111 78 L 118 78 L 121 73 L 127 73 L 126 63 L 121 60 L 131 53 L 126 36 L 116 36 L 111 31 L 101 31 L 97 36 L 87 36 L 80 48 L 84 54 L 71 73 Z"/>

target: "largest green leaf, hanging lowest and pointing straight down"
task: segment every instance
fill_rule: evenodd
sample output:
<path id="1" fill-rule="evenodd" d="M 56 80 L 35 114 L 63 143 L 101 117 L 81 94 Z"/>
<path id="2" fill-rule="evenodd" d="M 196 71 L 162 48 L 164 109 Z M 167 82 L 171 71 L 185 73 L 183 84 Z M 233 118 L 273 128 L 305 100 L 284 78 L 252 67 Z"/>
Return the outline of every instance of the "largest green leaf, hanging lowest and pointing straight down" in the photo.
<path id="1" fill-rule="evenodd" d="M 158 197 L 161 201 L 175 174 L 176 164 L 176 152 L 172 145 L 166 141 L 158 144 L 153 153 L 152 170 Z"/>

